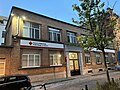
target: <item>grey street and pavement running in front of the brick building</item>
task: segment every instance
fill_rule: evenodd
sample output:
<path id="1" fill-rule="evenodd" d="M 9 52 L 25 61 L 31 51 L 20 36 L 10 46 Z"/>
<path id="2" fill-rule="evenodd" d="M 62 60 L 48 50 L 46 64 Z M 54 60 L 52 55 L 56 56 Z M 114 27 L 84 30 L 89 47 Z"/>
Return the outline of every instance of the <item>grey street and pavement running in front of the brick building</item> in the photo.
<path id="1" fill-rule="evenodd" d="M 120 72 L 110 72 L 110 77 L 114 79 L 120 78 Z M 94 90 L 96 82 L 103 83 L 106 81 L 106 74 L 96 74 L 87 76 L 76 76 L 75 79 L 53 83 L 46 85 L 47 90 L 84 90 L 85 85 L 88 85 L 89 90 Z M 44 90 L 38 89 L 35 90 Z"/>

